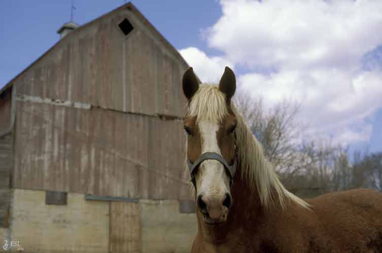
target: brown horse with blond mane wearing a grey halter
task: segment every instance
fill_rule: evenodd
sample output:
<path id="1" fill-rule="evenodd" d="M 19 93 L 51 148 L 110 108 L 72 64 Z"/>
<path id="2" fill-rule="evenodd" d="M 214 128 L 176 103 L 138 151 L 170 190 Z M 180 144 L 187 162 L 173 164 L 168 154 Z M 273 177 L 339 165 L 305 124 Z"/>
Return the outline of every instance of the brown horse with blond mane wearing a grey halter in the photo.
<path id="1" fill-rule="evenodd" d="M 380 252 L 382 194 L 358 189 L 302 200 L 285 189 L 231 103 L 235 75 L 219 87 L 183 76 L 187 163 L 198 231 L 192 252 Z"/>

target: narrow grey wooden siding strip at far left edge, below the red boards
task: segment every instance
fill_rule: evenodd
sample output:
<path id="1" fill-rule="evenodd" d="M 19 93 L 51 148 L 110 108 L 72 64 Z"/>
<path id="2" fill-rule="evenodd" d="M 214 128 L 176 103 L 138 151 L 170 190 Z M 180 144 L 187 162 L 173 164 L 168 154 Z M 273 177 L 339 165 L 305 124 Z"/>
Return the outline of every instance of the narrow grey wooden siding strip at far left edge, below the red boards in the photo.
<path id="1" fill-rule="evenodd" d="M 8 134 L 0 137 L 0 227 L 8 227 L 12 167 L 13 137 L 12 134 Z"/>

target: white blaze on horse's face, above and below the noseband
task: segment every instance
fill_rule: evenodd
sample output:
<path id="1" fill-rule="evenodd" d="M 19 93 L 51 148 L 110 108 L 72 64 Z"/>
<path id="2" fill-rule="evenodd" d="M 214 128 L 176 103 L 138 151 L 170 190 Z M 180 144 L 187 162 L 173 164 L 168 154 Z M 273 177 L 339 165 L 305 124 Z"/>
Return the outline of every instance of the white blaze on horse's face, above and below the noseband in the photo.
<path id="1" fill-rule="evenodd" d="M 209 121 L 198 123 L 200 132 L 201 153 L 215 152 L 221 155 L 217 133 L 219 125 Z M 204 160 L 195 175 L 197 194 L 218 201 L 229 192 L 229 178 L 224 166 L 217 160 Z"/>

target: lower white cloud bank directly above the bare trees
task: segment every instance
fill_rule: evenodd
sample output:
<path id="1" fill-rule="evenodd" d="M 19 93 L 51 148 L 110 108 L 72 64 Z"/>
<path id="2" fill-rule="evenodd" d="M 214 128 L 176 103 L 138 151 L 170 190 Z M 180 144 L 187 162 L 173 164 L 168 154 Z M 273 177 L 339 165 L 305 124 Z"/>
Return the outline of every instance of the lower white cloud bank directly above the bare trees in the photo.
<path id="1" fill-rule="evenodd" d="M 382 73 L 338 70 L 282 71 L 238 78 L 240 90 L 262 96 L 268 106 L 291 98 L 301 103 L 301 120 L 317 131 L 332 131 L 363 120 L 382 106 Z"/>

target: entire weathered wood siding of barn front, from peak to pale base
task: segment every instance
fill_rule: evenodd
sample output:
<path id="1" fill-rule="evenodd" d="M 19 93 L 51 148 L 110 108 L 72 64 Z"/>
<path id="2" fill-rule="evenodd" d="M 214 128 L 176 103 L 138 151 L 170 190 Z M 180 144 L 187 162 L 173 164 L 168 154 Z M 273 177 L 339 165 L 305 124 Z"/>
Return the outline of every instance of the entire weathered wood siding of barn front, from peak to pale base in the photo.
<path id="1" fill-rule="evenodd" d="M 125 18 L 134 27 L 127 36 L 118 26 Z M 132 5 L 62 38 L 12 81 L 14 187 L 189 199 L 186 68 Z"/>

